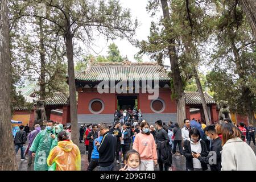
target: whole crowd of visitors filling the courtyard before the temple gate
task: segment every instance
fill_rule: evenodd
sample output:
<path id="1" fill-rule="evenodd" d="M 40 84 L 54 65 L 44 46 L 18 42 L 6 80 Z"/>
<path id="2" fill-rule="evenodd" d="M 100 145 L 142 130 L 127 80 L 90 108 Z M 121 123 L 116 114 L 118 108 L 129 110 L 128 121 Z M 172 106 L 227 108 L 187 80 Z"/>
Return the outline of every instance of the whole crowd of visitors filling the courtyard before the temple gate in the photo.
<path id="1" fill-rule="evenodd" d="M 166 125 L 158 120 L 150 125 L 135 118 L 132 122 L 115 119 L 114 125 L 81 125 L 79 140 L 86 146 L 87 170 L 112 171 L 123 164 L 121 171 L 152 171 L 156 165 L 160 171 L 171 171 L 172 155 L 185 158 L 187 171 L 256 170 L 256 156 L 250 147 L 251 140 L 255 146 L 255 128 L 251 124 L 236 126 L 230 119 L 209 126 L 195 119 L 183 122 L 183 126 Z M 45 129 L 34 128 L 26 137 L 24 126 L 20 126 L 14 138 L 16 152 L 21 149 L 23 160 L 28 155 L 28 166 L 34 157 L 35 171 L 81 170 L 81 154 L 71 140 L 71 126 L 47 121 Z M 29 142 L 24 152 L 26 138 Z"/>

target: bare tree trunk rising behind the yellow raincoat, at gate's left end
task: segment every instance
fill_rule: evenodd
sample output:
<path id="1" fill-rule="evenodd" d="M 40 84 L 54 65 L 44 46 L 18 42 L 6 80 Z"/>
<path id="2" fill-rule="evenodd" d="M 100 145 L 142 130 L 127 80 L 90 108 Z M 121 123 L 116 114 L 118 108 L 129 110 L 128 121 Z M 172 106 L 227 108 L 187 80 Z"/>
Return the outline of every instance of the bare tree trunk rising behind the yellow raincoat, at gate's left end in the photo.
<path id="1" fill-rule="evenodd" d="M 65 35 L 66 49 L 68 57 L 68 85 L 69 85 L 69 103 L 70 103 L 70 114 L 71 114 L 71 139 L 73 143 L 79 145 L 79 129 L 77 127 L 77 104 L 76 104 L 76 84 L 75 84 L 75 71 L 73 61 L 73 35 L 71 34 L 70 28 L 68 33 Z"/>

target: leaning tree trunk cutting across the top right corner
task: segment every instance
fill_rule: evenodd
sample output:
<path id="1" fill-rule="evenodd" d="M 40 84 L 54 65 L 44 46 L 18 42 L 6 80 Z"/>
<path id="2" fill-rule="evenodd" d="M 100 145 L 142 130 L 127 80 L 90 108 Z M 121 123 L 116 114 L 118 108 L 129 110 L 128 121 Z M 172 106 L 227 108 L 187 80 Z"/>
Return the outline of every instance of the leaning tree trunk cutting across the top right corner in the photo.
<path id="1" fill-rule="evenodd" d="M 254 39 L 256 40 L 256 1 L 255 0 L 238 0 L 238 4 L 245 13 L 251 30 L 253 30 Z"/>

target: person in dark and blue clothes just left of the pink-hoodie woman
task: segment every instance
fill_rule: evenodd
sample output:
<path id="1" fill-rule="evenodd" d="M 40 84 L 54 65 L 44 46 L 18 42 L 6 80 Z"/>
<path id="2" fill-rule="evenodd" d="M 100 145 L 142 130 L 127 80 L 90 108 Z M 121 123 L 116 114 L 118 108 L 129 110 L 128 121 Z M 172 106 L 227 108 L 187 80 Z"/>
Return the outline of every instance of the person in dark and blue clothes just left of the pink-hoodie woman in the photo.
<path id="1" fill-rule="evenodd" d="M 121 134 L 121 148 L 123 152 L 123 160 L 125 159 L 126 152 L 130 150 L 130 143 L 131 143 L 131 131 L 127 129 L 126 125 L 127 124 L 123 125 L 122 134 Z"/>

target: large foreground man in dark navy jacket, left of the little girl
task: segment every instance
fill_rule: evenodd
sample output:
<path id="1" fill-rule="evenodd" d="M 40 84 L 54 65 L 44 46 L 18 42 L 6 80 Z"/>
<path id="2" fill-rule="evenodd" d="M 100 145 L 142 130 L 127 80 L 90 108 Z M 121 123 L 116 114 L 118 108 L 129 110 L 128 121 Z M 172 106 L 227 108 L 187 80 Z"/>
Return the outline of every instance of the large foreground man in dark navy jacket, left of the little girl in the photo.
<path id="1" fill-rule="evenodd" d="M 100 156 L 98 160 L 98 165 L 100 166 L 99 170 L 113 171 L 117 137 L 113 134 L 109 134 L 109 127 L 105 124 L 100 127 L 100 135 L 103 136 L 101 143 L 98 141 L 95 143 Z"/>

